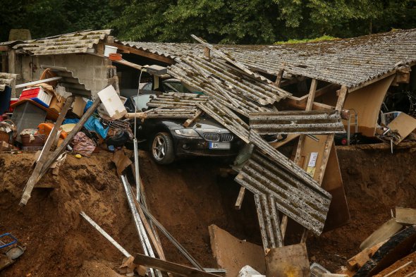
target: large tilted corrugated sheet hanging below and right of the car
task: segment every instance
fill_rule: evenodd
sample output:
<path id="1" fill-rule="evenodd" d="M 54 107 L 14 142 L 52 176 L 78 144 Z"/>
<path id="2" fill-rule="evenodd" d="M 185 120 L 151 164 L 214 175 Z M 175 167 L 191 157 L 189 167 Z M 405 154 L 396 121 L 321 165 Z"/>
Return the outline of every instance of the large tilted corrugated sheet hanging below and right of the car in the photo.
<path id="1" fill-rule="evenodd" d="M 305 228 L 322 233 L 331 195 L 316 190 L 281 167 L 278 161 L 255 152 L 243 166 L 235 182 L 258 195 L 272 195 L 279 211 Z"/>

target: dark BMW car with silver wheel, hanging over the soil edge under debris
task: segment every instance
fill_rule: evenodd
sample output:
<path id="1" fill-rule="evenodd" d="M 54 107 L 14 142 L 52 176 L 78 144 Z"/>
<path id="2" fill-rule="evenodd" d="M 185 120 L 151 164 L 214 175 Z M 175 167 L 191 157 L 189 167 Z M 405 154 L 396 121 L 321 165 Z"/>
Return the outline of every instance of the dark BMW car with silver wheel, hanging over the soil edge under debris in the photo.
<path id="1" fill-rule="evenodd" d="M 126 101 L 128 112 L 145 111 L 147 102 L 155 92 L 145 91 Z M 140 149 L 149 150 L 157 164 L 171 164 L 186 156 L 235 156 L 240 140 L 208 116 L 183 127 L 184 119 L 147 118 L 137 121 L 137 140 Z"/>

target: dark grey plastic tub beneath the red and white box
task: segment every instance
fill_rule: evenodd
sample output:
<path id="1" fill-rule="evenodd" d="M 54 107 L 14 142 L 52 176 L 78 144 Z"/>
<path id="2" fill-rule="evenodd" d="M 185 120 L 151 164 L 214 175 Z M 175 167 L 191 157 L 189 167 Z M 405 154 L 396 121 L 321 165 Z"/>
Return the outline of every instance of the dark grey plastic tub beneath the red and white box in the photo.
<path id="1" fill-rule="evenodd" d="M 47 111 L 40 109 L 30 101 L 25 101 L 23 104 L 16 106 L 13 111 L 11 120 L 16 124 L 18 136 L 16 140 L 22 142 L 20 132 L 23 129 L 36 129 L 40 123 L 43 123 L 47 118 Z"/>

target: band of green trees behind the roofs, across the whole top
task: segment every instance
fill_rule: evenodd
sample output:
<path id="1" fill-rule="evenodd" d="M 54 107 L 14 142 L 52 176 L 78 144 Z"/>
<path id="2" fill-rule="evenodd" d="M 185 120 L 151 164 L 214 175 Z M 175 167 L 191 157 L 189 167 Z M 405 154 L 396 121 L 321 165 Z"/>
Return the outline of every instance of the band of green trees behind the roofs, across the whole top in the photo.
<path id="1" fill-rule="evenodd" d="M 414 0 L 3 0 L 0 39 L 113 28 L 123 40 L 273 44 L 416 27 Z"/>

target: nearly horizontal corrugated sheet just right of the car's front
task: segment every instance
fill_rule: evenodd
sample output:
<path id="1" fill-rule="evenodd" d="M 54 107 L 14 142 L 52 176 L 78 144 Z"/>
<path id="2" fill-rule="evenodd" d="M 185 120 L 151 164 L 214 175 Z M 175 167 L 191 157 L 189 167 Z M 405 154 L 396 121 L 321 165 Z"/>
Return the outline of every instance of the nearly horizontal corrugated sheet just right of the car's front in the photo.
<path id="1" fill-rule="evenodd" d="M 260 135 L 345 133 L 339 111 L 324 110 L 250 113 L 250 128 Z"/>

